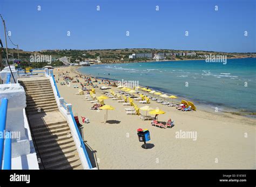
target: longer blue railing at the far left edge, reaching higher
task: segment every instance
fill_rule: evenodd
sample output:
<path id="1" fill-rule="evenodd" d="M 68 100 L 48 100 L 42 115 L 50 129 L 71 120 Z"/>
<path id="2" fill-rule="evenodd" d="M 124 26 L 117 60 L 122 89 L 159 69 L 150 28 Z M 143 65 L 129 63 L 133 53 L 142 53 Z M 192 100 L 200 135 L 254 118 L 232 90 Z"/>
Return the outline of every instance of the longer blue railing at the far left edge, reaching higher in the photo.
<path id="1" fill-rule="evenodd" d="M 0 132 L 4 135 L 5 126 L 6 126 L 6 117 L 7 117 L 7 106 L 8 99 L 3 98 L 0 106 Z M 4 152 L 4 136 L 0 137 L 0 169 L 2 169 L 3 162 L 3 152 Z"/>

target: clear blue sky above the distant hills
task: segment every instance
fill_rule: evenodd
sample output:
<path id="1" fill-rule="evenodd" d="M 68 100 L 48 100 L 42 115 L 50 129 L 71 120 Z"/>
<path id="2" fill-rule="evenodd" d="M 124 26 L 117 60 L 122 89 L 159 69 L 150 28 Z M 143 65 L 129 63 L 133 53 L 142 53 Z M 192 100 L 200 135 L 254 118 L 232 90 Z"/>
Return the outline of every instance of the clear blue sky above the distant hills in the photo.
<path id="1" fill-rule="evenodd" d="M 0 0 L 0 13 L 11 31 L 11 39 L 27 51 L 165 48 L 256 52 L 255 2 Z M 41 11 L 37 10 L 38 5 Z M 100 11 L 96 10 L 97 5 Z M 156 11 L 157 5 L 159 11 Z M 215 5 L 218 11 L 214 10 Z M 2 31 L 1 23 L 3 40 Z M 129 37 L 126 31 L 130 32 Z M 187 37 L 185 31 L 188 31 Z M 8 45 L 14 47 L 10 42 Z"/>

